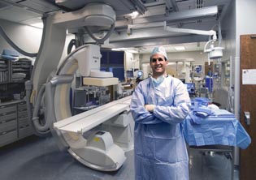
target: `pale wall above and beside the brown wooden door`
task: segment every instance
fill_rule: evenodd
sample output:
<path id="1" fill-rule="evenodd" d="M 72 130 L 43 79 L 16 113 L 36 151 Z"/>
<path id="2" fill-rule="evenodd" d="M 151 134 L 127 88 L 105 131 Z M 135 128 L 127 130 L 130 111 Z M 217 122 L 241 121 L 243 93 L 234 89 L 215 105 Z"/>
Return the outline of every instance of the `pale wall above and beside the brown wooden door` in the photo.
<path id="1" fill-rule="evenodd" d="M 256 34 L 256 1 L 235 0 L 228 6 L 228 11 L 222 19 L 223 42 L 225 47 L 223 59 L 231 62 L 231 86 L 234 86 L 234 114 L 239 119 L 240 111 L 240 36 L 243 34 Z M 235 165 L 239 165 L 239 149 L 235 149 Z"/>

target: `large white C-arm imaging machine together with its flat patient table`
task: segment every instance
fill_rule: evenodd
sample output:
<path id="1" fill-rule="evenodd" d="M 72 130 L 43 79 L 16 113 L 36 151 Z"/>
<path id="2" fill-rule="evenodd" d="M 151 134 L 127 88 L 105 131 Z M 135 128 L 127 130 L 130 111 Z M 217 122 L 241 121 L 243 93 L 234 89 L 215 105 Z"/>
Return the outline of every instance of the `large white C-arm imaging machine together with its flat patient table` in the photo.
<path id="1" fill-rule="evenodd" d="M 90 25 L 112 28 L 113 24 L 115 11 L 111 6 L 97 3 L 79 11 L 47 16 L 33 79 L 26 83 L 28 109 L 33 106 L 33 113 L 30 110 L 28 115 L 36 133 L 48 135 L 51 132 L 60 148 L 66 149 L 82 164 L 102 171 L 119 169 L 126 159 L 124 150 L 114 144 L 108 131 L 92 131 L 87 137 L 85 134 L 102 123 L 111 123 L 114 128 L 110 129 L 117 136 L 115 141 L 123 143 L 124 148 L 131 148 L 130 97 L 72 116 L 70 89 L 77 69 L 85 76 L 84 84 L 110 86 L 118 84 L 118 79 L 111 73 L 99 71 L 98 45 L 81 45 L 68 54 L 57 70 L 55 68 L 63 53 L 67 28 Z M 121 128 L 122 132 L 113 130 L 115 128 Z"/>

